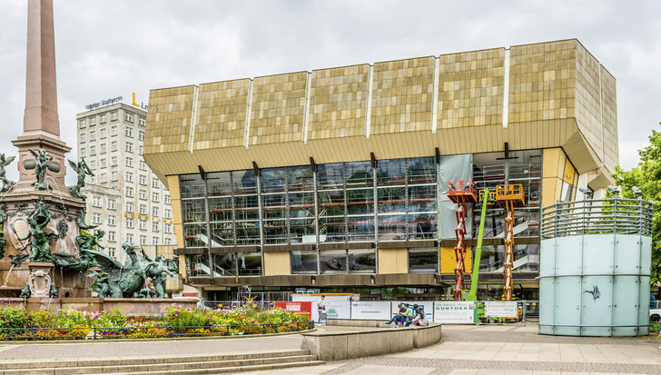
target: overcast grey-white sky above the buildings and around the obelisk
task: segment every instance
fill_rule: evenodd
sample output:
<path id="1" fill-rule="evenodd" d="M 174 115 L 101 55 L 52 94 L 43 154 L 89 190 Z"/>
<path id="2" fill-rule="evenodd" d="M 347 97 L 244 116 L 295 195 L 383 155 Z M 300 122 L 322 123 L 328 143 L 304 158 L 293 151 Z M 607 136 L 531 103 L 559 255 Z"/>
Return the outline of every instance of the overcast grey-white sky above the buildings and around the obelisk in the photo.
<path id="1" fill-rule="evenodd" d="M 617 79 L 630 169 L 661 130 L 659 15 L 653 0 L 54 0 L 62 139 L 75 149 L 85 104 L 153 88 L 577 38 Z M 27 1 L 0 2 L 1 153 L 23 133 L 26 22 Z"/>

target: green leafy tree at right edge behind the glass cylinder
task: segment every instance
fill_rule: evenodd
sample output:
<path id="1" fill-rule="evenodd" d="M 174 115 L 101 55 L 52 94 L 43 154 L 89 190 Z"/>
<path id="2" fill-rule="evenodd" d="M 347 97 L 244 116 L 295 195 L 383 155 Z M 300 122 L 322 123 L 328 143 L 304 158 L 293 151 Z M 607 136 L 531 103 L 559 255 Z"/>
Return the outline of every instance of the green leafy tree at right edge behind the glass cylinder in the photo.
<path id="1" fill-rule="evenodd" d="M 652 131 L 649 145 L 639 150 L 641 162 L 631 171 L 619 166 L 613 177 L 622 188 L 623 198 L 633 198 L 631 187 L 643 192 L 643 199 L 655 202 L 652 224 L 652 285 L 661 282 L 661 132 Z"/>

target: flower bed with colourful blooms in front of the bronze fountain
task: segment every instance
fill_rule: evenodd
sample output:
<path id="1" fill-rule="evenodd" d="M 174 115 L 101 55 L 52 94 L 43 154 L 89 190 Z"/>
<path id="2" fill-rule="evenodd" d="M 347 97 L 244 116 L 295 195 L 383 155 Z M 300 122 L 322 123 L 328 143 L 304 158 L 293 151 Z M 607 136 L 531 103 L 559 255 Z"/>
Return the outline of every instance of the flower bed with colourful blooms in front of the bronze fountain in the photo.
<path id="1" fill-rule="evenodd" d="M 173 304 L 161 317 L 126 317 L 119 310 L 25 311 L 0 306 L 0 340 L 98 340 L 233 336 L 307 330 L 303 313 L 184 309 Z"/>

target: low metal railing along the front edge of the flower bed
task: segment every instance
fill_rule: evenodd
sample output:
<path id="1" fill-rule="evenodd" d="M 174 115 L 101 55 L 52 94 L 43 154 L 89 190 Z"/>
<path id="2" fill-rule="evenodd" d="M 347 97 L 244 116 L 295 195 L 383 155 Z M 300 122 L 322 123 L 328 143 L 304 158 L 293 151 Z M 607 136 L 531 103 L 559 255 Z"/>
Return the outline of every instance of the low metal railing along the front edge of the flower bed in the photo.
<path id="1" fill-rule="evenodd" d="M 156 339 L 208 336 L 254 335 L 306 331 L 314 328 L 313 321 L 291 323 L 263 323 L 242 325 L 212 325 L 195 327 L 68 327 L 68 328 L 4 328 L 0 337 L 11 340 L 109 340 Z"/>

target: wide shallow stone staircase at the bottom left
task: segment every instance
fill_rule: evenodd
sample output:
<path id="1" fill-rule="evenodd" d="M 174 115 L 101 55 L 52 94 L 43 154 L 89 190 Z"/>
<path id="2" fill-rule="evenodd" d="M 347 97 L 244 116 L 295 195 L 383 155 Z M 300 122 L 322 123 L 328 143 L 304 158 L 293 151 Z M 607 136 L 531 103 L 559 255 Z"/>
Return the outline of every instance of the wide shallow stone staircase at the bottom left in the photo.
<path id="1" fill-rule="evenodd" d="M 321 365 L 309 350 L 232 353 L 151 358 L 5 360 L 3 374 L 217 374 Z"/>

